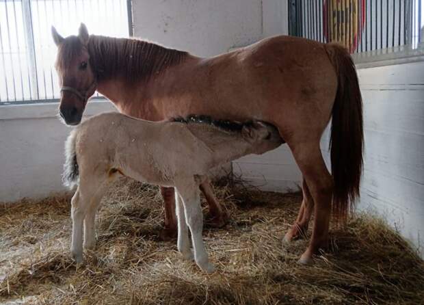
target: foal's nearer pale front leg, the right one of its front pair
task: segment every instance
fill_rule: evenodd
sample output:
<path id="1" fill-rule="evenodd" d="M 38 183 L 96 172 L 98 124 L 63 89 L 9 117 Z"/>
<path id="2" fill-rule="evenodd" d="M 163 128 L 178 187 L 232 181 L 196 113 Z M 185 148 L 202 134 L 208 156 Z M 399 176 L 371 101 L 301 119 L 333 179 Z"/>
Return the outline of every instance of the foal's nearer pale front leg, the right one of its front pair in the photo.
<path id="1" fill-rule="evenodd" d="M 193 178 L 191 178 L 193 179 Z M 203 214 L 200 207 L 199 188 L 194 181 L 183 181 L 176 185 L 178 194 L 183 199 L 185 219 L 190 228 L 191 242 L 194 248 L 194 260 L 200 269 L 212 273 L 215 267 L 209 263 L 208 254 L 202 239 Z"/>

